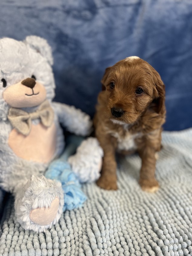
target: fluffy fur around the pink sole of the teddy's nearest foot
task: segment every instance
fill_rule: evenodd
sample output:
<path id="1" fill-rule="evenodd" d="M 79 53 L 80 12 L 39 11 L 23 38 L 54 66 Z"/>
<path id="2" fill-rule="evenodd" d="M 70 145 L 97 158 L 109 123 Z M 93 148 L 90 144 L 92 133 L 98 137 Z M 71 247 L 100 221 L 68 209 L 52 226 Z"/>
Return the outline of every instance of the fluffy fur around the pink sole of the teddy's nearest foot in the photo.
<path id="1" fill-rule="evenodd" d="M 30 212 L 36 208 L 48 208 L 51 202 L 59 198 L 59 209 L 55 219 L 48 225 L 35 224 L 30 219 Z M 25 202 L 25 203 L 23 203 Z M 63 212 L 64 194 L 61 183 L 48 180 L 44 176 L 32 175 L 23 189 L 19 191 L 15 198 L 15 212 L 18 222 L 25 229 L 32 229 L 37 232 L 45 231 L 58 222 Z"/>

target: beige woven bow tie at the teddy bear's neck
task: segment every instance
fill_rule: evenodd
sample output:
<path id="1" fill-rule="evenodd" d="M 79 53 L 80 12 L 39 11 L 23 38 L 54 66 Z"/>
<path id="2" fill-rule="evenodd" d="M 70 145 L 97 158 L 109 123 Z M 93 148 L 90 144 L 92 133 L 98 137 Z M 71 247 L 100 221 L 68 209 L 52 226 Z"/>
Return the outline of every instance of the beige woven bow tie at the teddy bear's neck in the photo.
<path id="1" fill-rule="evenodd" d="M 41 119 L 45 127 L 51 126 L 54 120 L 54 111 L 48 100 L 41 103 L 39 108 L 32 113 L 23 111 L 20 108 L 10 108 L 8 119 L 11 125 L 20 133 L 27 136 L 31 131 L 31 120 Z"/>

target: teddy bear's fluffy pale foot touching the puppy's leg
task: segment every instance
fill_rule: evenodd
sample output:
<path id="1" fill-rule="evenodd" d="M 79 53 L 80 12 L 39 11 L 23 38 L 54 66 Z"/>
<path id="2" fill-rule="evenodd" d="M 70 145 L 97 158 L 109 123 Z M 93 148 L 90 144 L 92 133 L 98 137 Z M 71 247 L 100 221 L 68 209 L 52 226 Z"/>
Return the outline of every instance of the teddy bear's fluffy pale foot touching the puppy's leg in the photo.
<path id="1" fill-rule="evenodd" d="M 96 138 L 84 140 L 75 155 L 68 158 L 72 170 L 81 183 L 93 182 L 100 177 L 103 149 Z"/>

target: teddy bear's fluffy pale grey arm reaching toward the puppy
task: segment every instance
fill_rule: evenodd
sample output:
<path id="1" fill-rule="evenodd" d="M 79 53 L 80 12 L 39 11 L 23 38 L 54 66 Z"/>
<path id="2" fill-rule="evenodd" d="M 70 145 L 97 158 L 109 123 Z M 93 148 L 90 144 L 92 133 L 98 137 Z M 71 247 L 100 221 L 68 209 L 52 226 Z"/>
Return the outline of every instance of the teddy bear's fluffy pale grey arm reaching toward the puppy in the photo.
<path id="1" fill-rule="evenodd" d="M 58 115 L 59 122 L 64 125 L 68 131 L 82 136 L 91 133 L 92 121 L 89 115 L 74 106 L 63 103 L 52 102 L 51 106 L 56 115 Z"/>

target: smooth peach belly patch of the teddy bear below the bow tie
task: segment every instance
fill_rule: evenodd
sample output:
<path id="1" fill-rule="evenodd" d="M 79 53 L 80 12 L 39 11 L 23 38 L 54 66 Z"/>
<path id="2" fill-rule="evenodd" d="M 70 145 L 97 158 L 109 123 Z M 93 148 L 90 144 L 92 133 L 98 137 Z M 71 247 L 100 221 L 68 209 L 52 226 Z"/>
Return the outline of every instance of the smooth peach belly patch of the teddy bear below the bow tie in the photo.
<path id="1" fill-rule="evenodd" d="M 13 129 L 8 144 L 15 155 L 28 161 L 47 163 L 51 161 L 56 149 L 56 127 L 46 128 L 41 123 L 32 125 L 31 132 L 24 136 Z"/>

